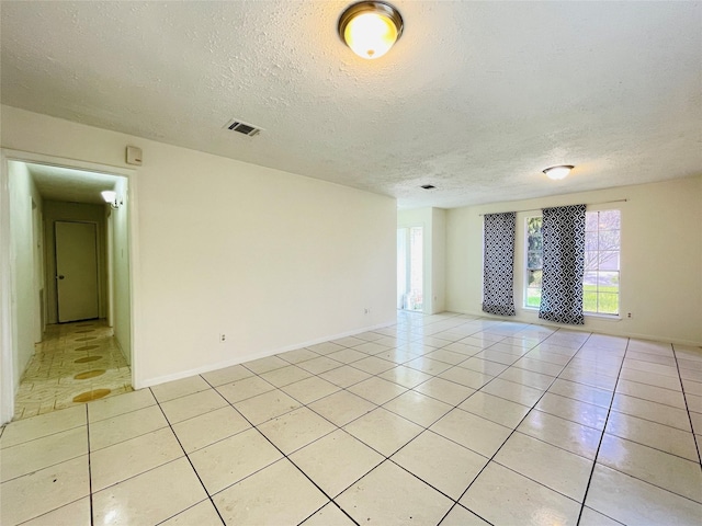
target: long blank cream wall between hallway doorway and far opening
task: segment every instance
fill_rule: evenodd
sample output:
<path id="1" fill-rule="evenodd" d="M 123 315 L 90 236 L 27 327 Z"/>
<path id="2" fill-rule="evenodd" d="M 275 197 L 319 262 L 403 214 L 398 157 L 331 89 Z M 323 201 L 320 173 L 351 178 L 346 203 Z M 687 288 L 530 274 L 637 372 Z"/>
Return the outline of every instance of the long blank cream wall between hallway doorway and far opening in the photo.
<path id="1" fill-rule="evenodd" d="M 396 319 L 392 198 L 9 106 L 1 125 L 13 150 L 127 168 L 143 149 L 137 387 Z"/>

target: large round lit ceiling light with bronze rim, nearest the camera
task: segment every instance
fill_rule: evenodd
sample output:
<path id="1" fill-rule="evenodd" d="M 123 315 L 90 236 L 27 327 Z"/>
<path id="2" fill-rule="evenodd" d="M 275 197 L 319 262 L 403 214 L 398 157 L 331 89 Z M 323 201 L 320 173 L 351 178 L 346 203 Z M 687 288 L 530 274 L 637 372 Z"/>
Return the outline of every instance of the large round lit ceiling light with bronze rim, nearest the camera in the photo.
<path id="1" fill-rule="evenodd" d="M 385 55 L 403 34 L 403 18 L 385 2 L 351 4 L 339 18 L 339 36 L 359 57 Z"/>

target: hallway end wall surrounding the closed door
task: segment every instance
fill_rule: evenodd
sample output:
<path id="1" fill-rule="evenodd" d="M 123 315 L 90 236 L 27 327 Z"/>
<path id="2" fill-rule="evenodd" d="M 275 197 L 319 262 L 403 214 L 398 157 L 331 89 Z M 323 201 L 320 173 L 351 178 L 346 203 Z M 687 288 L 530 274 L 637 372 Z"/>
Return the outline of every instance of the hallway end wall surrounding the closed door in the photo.
<path id="1" fill-rule="evenodd" d="M 104 205 L 91 205 L 88 203 L 65 203 L 61 201 L 44 202 L 44 222 L 46 239 L 46 301 L 48 304 L 48 323 L 58 323 L 58 309 L 56 301 L 56 221 L 84 221 L 94 222 L 98 232 L 98 287 L 99 287 L 99 316 L 107 316 L 107 271 L 106 271 L 106 237 Z"/>

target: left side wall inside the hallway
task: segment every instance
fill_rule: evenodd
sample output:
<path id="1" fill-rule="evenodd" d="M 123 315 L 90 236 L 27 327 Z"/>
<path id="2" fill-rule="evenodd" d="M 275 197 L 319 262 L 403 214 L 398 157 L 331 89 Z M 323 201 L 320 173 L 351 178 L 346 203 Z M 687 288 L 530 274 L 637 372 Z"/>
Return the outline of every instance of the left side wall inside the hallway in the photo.
<path id="1" fill-rule="evenodd" d="M 36 341 L 37 288 L 35 284 L 36 261 L 32 203 L 42 210 L 42 198 L 36 191 L 26 165 L 9 162 L 10 237 L 12 309 L 19 316 L 13 328 L 12 378 L 16 391 L 22 374 L 34 354 Z"/>

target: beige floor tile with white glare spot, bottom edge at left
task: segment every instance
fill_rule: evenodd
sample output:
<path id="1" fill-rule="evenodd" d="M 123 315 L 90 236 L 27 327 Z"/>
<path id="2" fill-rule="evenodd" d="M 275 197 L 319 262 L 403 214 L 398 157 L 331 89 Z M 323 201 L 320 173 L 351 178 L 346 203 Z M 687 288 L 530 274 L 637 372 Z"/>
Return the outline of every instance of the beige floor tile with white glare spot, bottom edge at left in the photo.
<path id="1" fill-rule="evenodd" d="M 94 493 L 94 524 L 158 524 L 206 496 L 190 462 L 179 458 Z"/>

